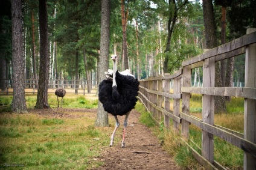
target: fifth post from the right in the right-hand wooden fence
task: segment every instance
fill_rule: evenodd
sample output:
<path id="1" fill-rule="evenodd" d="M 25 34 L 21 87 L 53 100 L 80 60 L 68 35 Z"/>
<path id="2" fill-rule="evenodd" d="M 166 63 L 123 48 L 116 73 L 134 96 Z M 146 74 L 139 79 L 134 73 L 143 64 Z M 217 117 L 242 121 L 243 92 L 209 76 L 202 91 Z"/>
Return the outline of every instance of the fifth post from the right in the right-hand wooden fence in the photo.
<path id="1" fill-rule="evenodd" d="M 170 75 L 169 73 L 165 73 L 165 76 Z M 164 79 L 164 92 L 170 93 L 170 79 Z M 170 99 L 168 97 L 164 97 L 164 109 L 167 112 L 170 112 Z M 170 127 L 170 117 L 164 115 L 164 126 L 168 129 Z"/>

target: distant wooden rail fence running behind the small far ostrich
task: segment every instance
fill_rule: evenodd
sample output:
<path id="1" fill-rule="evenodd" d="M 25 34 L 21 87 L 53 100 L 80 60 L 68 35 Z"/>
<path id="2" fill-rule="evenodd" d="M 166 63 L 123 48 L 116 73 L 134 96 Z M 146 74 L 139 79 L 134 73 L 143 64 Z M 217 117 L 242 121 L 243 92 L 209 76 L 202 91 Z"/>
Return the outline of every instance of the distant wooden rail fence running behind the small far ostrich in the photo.
<path id="1" fill-rule="evenodd" d="M 13 93 L 13 86 L 11 79 L 1 79 L 1 82 L 5 84 L 5 90 L 0 90 L 0 94 Z M 83 94 L 88 93 L 88 83 L 91 93 L 96 93 L 97 91 L 97 81 L 88 80 L 60 80 L 54 79 L 49 80 L 48 83 L 48 93 L 55 93 L 57 88 L 65 88 L 66 93 L 71 94 Z M 26 79 L 24 82 L 25 93 L 37 93 L 38 80 L 37 79 Z M 76 92 L 76 91 L 77 92 Z"/>

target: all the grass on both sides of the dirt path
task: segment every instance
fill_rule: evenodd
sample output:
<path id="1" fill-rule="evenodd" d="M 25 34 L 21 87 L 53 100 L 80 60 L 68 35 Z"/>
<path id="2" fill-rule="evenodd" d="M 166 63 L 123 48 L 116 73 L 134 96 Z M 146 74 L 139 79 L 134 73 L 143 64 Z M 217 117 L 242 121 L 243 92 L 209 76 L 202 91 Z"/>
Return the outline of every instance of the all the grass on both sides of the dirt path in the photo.
<path id="1" fill-rule="evenodd" d="M 12 96 L 0 96 L 0 113 L 8 110 Z M 66 94 L 63 108 L 97 108 L 97 97 Z M 215 114 L 214 123 L 243 133 L 243 99 L 232 98 L 227 113 Z M 36 95 L 26 95 L 28 109 L 36 105 Z M 49 94 L 48 103 L 57 108 L 57 99 Z M 181 105 L 182 106 L 182 105 Z M 184 169 L 203 169 L 182 143 L 181 132 L 165 129 L 163 120 L 156 127 L 144 105 L 137 103 L 140 122 L 152 129 L 165 150 Z M 192 95 L 190 113 L 202 118 L 202 96 Z M 0 169 L 90 169 L 103 162 L 94 158 L 109 144 L 114 127 L 96 128 L 91 113 L 73 112 L 74 118 L 55 118 L 33 114 L 0 114 Z M 170 120 L 170 126 L 173 122 Z M 200 153 L 201 130 L 190 125 L 189 144 Z M 214 160 L 230 169 L 243 169 L 243 151 L 214 136 Z"/>

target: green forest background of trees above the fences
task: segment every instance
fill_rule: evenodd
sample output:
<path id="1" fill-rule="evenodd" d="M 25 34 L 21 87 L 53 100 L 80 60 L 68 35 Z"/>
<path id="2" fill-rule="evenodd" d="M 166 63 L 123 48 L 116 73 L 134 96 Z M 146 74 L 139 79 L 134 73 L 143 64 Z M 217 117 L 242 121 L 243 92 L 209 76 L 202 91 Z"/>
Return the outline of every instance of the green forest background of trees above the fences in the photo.
<path id="1" fill-rule="evenodd" d="M 22 1 L 24 67 L 21 71 L 26 80 L 38 79 L 43 70 L 40 69 L 39 2 Z M 0 88 L 4 91 L 6 80 L 13 79 L 13 69 L 19 65 L 13 64 L 11 1 L 0 3 Z M 213 1 L 213 7 L 217 45 L 245 35 L 247 28 L 256 27 L 254 0 Z M 97 80 L 101 1 L 48 1 L 46 12 L 48 79 Z M 206 48 L 203 19 L 199 1 L 111 0 L 110 53 L 118 55 L 118 70 L 129 68 L 138 80 L 173 73 L 182 61 Z M 244 55 L 235 61 L 231 58 L 217 66 L 223 86 L 244 81 L 244 58 Z M 200 82 L 202 71 L 195 69 L 192 74 L 194 81 Z"/>

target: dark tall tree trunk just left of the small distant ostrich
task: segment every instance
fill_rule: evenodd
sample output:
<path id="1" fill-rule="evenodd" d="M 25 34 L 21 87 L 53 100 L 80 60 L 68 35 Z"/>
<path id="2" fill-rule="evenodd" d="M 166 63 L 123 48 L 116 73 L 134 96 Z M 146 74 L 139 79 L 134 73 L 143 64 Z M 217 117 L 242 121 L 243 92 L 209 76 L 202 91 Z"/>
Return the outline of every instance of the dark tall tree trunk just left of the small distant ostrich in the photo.
<path id="1" fill-rule="evenodd" d="M 48 14 L 46 0 L 39 0 L 39 29 L 40 29 L 40 67 L 39 87 L 37 91 L 37 109 L 50 108 L 48 105 L 49 79 L 49 44 L 48 44 Z"/>

